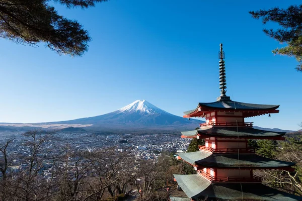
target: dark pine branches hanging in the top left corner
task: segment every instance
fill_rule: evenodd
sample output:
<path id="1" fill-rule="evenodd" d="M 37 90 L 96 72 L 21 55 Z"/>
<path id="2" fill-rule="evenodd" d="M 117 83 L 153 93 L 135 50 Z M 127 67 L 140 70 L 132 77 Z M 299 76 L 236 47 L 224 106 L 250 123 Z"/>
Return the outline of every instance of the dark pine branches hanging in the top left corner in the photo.
<path id="1" fill-rule="evenodd" d="M 50 2 L 67 8 L 88 8 L 107 0 L 0 0 L 0 37 L 19 44 L 44 42 L 58 54 L 81 56 L 91 40 L 76 20 L 59 15 Z"/>

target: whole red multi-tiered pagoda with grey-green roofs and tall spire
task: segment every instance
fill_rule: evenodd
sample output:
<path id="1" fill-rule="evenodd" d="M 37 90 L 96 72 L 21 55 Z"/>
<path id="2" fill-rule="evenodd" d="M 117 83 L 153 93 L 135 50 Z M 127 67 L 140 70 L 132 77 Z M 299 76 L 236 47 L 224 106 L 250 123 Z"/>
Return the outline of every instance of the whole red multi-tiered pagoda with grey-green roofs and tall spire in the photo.
<path id="1" fill-rule="evenodd" d="M 182 138 L 204 139 L 199 151 L 179 153 L 193 166 L 197 174 L 177 175 L 175 180 L 188 198 L 171 200 L 302 200 L 302 197 L 261 184 L 261 177 L 253 174 L 257 169 L 294 170 L 292 162 L 273 160 L 255 154 L 248 147 L 248 139 L 284 140 L 284 132 L 253 128 L 245 118 L 279 113 L 278 105 L 241 103 L 226 96 L 224 52 L 220 44 L 219 85 L 221 95 L 216 102 L 199 103 L 197 108 L 184 112 L 184 118 L 201 117 L 206 122 L 200 129 L 181 132 Z"/>

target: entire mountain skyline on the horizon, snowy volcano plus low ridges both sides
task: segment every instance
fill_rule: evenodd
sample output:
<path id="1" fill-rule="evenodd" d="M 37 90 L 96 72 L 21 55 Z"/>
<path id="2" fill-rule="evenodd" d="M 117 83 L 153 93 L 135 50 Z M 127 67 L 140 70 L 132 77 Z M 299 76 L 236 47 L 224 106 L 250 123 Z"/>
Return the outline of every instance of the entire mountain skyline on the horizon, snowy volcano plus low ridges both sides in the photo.
<path id="1" fill-rule="evenodd" d="M 20 131 L 38 129 L 55 129 L 60 132 L 134 132 L 157 133 L 159 131 L 189 131 L 199 127 L 204 121 L 196 119 L 186 119 L 168 113 L 146 100 L 135 100 L 133 103 L 111 113 L 95 117 L 81 118 L 60 122 L 17 124 L 0 123 L 0 131 Z M 281 130 L 278 128 L 255 129 L 276 131 L 276 132 L 296 132 L 291 130 Z"/>

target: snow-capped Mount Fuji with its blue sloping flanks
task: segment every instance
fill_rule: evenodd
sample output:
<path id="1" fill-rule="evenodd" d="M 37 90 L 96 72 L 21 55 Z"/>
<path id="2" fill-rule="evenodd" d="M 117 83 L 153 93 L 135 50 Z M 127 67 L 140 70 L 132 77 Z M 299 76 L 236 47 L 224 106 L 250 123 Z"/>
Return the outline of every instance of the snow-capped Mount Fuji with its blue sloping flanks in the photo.
<path id="1" fill-rule="evenodd" d="M 108 114 L 50 123 L 91 125 L 91 127 L 110 129 L 186 130 L 195 129 L 203 121 L 188 120 L 172 115 L 146 100 L 135 100 L 133 103 Z"/>

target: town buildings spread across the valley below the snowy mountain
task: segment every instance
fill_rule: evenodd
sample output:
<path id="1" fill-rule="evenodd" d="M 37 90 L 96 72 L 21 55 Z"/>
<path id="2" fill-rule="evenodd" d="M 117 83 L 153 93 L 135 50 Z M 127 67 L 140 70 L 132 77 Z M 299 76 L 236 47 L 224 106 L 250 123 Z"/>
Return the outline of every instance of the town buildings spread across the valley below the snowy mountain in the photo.
<path id="1" fill-rule="evenodd" d="M 8 172 L 19 172 L 30 165 L 28 157 L 31 157 L 32 147 L 30 138 L 21 132 L 0 132 L 0 144 L 5 145 L 7 141 L 14 139 L 7 152 L 10 158 L 14 158 L 8 168 Z M 175 134 L 111 134 L 105 135 L 96 133 L 58 132 L 50 133 L 51 137 L 45 141 L 43 149 L 39 153 L 42 159 L 40 175 L 46 179 L 51 177 L 49 170 L 54 170 L 49 160 L 51 150 L 52 155 L 64 155 L 68 151 L 71 153 L 97 152 L 108 148 L 113 148 L 117 152 L 127 151 L 135 160 L 158 159 L 162 153 L 185 152 L 191 140 L 182 139 Z M 62 152 L 63 150 L 63 152 Z M 70 157 L 68 163 L 77 162 L 77 157 Z M 53 161 L 52 161 L 53 162 Z M 56 161 L 63 165 L 64 161 Z M 71 165 L 72 167 L 72 165 Z M 0 172 L 0 177 L 2 173 Z"/>

